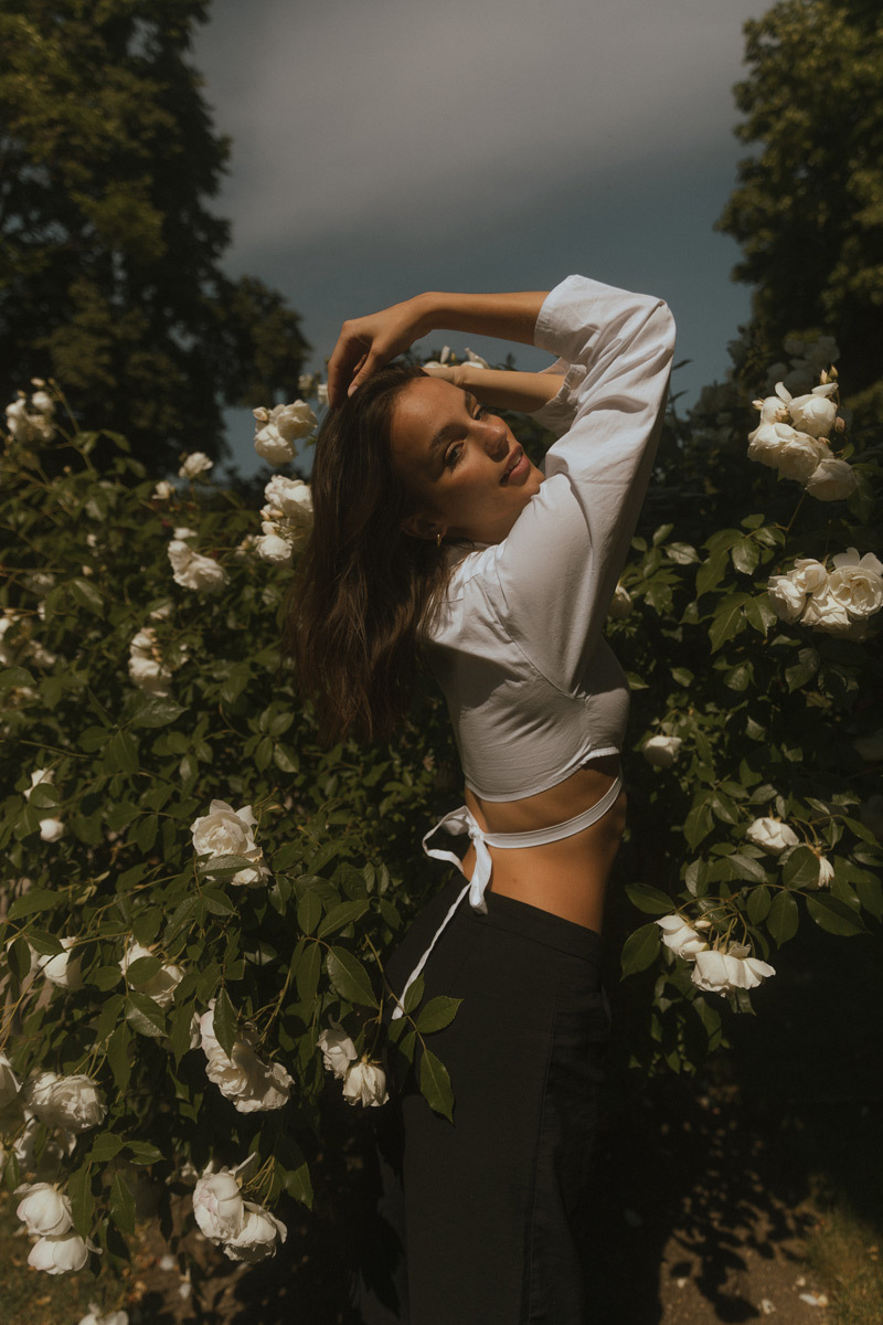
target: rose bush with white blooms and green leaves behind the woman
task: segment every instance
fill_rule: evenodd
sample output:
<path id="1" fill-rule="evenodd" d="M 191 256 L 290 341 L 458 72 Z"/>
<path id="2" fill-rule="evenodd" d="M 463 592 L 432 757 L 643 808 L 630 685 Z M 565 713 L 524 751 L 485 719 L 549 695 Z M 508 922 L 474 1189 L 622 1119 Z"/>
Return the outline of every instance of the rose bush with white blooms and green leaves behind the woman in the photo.
<path id="1" fill-rule="evenodd" d="M 826 415 L 801 408 L 788 427 L 812 439 Z M 311 407 L 263 415 L 262 445 L 287 462 Z M 421 692 L 396 742 L 323 750 L 278 648 L 303 481 L 275 476 L 252 510 L 204 468 L 154 484 L 122 439 L 97 472 L 95 437 L 65 437 L 56 417 L 33 396 L 16 407 L 0 484 L 4 1181 L 69 1202 L 71 1228 L 32 1248 L 50 1273 L 120 1255 L 139 1170 L 163 1218 L 184 1202 L 228 1256 L 256 1261 L 285 1238 L 285 1202 L 311 1202 L 326 1088 L 380 1108 L 385 1055 L 401 1053 L 450 1116 L 457 1083 L 432 1036 L 457 1000 L 425 1000 L 417 980 L 384 1028 L 385 957 L 441 882 L 420 839 L 457 795 L 447 718 Z M 518 427 L 536 449 L 536 425 Z M 609 624 L 634 704 L 610 942 L 634 977 L 622 998 L 642 1072 L 694 1069 L 724 1034 L 720 995 L 763 998 L 802 917 L 847 935 L 883 916 L 879 751 L 860 749 L 879 726 L 870 481 L 794 517 L 793 488 L 745 464 L 743 439 L 769 514 L 745 506 L 700 538 L 702 504 L 678 486 L 707 466 L 690 445 L 671 464 L 663 447 Z M 286 546 L 279 564 L 262 538 Z M 800 599 L 788 619 L 776 575 Z M 810 633 L 800 612 L 822 592 L 864 639 Z M 796 841 L 770 853 L 757 820 Z"/>

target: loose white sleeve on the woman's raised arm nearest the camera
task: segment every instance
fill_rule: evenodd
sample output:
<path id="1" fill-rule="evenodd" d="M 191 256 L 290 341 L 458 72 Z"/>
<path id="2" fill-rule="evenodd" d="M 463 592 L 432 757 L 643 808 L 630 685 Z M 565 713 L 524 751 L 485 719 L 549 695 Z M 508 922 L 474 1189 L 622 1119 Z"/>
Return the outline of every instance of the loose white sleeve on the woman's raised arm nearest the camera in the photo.
<path id="1" fill-rule="evenodd" d="M 534 666 L 571 692 L 604 629 L 650 478 L 674 319 L 661 299 L 571 276 L 543 303 L 535 341 L 571 366 L 534 415 L 563 436 L 540 492 L 498 545 L 487 587 Z"/>

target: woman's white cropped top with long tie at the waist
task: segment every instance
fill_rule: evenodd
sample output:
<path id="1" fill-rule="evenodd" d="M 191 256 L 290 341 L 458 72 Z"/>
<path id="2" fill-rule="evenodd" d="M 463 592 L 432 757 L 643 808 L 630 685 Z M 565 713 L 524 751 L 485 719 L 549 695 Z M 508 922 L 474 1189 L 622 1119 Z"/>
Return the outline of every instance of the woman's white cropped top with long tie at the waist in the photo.
<path id="1" fill-rule="evenodd" d="M 451 547 L 446 596 L 428 628 L 466 786 L 482 800 L 520 800 L 581 765 L 622 747 L 629 688 L 602 639 L 653 468 L 674 354 L 674 321 L 659 299 L 571 276 L 548 295 L 535 342 L 565 372 L 555 400 L 534 417 L 556 433 L 545 480 L 491 546 Z M 469 833 L 475 868 L 401 998 L 469 893 L 485 912 L 488 847 L 556 841 L 600 819 L 617 780 L 584 814 L 528 833 L 486 833 L 466 806 L 445 828 Z M 393 1019 L 402 1015 L 401 1000 Z"/>

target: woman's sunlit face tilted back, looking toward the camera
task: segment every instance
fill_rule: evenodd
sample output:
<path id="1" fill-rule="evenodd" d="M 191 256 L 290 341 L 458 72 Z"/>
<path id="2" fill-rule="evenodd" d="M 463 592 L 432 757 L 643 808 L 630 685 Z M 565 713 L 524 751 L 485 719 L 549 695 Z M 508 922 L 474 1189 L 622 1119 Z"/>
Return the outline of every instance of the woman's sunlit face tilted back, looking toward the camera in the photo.
<path id="1" fill-rule="evenodd" d="M 499 543 L 543 482 L 503 420 L 440 378 L 400 391 L 391 452 L 414 501 L 402 527 L 421 538 Z"/>

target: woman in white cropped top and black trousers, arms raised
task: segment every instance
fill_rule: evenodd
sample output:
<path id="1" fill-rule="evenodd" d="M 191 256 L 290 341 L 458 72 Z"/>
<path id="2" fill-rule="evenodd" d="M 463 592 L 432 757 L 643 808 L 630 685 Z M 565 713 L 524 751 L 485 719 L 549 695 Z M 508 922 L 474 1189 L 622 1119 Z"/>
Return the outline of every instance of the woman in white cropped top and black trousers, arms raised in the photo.
<path id="1" fill-rule="evenodd" d="M 557 359 L 541 374 L 384 367 L 441 329 Z M 398 1000 L 421 975 L 426 999 L 463 1002 L 432 1040 L 454 1125 L 413 1089 L 398 1104 L 408 1304 L 397 1314 L 387 1295 L 372 1320 L 585 1318 L 573 1220 L 608 1036 L 600 934 L 629 702 L 602 629 L 673 347 L 661 301 L 569 277 L 549 294 L 418 295 L 344 323 L 328 366 L 291 624 L 301 676 L 330 734 L 385 734 L 422 649 L 466 780 L 437 828 L 469 835 L 462 861 L 426 835 L 466 885 L 429 904 L 387 971 Z M 488 405 L 557 435 L 543 470 Z"/>

